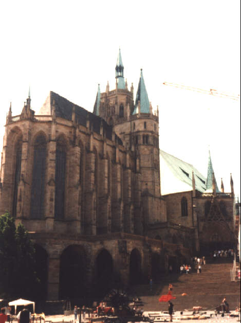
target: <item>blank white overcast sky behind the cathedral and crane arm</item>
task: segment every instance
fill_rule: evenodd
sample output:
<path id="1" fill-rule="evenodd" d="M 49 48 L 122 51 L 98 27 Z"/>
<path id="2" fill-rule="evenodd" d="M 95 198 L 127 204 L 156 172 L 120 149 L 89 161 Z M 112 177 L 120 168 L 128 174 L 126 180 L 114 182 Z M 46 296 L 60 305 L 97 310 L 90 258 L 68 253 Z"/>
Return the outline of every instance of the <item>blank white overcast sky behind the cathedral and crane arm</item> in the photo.
<path id="1" fill-rule="evenodd" d="M 140 68 L 159 105 L 160 149 L 207 175 L 208 147 L 220 188 L 240 195 L 240 102 L 161 85 L 240 93 L 240 1 L 0 2 L 0 136 L 12 101 L 31 88 L 38 113 L 49 91 L 92 111 L 98 83 L 115 87 L 119 46 L 128 85 Z M 1 140 L 2 150 L 2 140 Z"/>

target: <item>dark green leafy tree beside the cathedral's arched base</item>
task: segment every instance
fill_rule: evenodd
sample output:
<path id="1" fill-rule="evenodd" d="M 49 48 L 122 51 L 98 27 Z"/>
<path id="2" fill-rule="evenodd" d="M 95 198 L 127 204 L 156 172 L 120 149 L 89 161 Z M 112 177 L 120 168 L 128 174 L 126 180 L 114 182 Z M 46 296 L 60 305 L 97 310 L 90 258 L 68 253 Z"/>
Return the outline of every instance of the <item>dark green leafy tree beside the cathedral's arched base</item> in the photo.
<path id="1" fill-rule="evenodd" d="M 32 298 L 38 289 L 35 249 L 28 231 L 6 212 L 0 216 L 0 296 Z"/>

